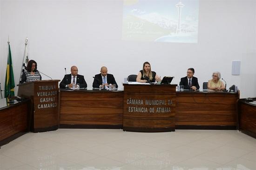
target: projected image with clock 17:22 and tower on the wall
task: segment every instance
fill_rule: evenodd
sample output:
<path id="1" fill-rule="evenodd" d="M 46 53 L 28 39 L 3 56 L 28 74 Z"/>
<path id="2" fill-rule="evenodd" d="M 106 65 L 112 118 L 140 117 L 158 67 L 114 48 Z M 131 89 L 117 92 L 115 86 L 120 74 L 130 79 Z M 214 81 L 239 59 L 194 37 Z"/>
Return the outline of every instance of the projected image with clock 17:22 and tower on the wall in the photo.
<path id="1" fill-rule="evenodd" d="M 197 43 L 198 0 L 124 0 L 122 39 Z"/>

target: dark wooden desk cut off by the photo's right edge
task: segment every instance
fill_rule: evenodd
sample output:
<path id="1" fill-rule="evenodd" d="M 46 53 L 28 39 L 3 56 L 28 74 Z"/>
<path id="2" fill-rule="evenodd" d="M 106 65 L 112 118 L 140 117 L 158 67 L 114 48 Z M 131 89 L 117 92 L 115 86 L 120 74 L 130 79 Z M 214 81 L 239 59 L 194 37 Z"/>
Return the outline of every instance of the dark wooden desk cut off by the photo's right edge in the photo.
<path id="1" fill-rule="evenodd" d="M 253 98 L 256 101 L 256 98 Z M 238 129 L 256 138 L 256 104 L 240 99 L 238 102 Z"/>

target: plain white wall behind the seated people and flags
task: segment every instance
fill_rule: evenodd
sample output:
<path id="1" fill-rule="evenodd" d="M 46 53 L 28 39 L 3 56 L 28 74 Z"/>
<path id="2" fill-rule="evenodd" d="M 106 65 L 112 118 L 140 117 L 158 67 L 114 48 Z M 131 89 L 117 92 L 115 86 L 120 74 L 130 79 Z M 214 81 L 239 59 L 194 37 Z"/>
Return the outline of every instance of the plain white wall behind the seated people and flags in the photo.
<path id="1" fill-rule="evenodd" d="M 122 41 L 122 8 L 121 0 L 1 0 L 0 82 L 5 81 L 9 35 L 16 83 L 28 37 L 29 58 L 53 79 L 63 78 L 64 67 L 70 73 L 77 65 L 92 87 L 92 76 L 106 65 L 121 87 L 124 77 L 149 61 L 161 77 L 174 75 L 174 84 L 194 67 L 201 88 L 220 71 L 227 87 L 238 85 L 241 98 L 256 96 L 256 1 L 200 1 L 198 44 Z M 231 75 L 232 60 L 241 60 L 241 75 Z"/>

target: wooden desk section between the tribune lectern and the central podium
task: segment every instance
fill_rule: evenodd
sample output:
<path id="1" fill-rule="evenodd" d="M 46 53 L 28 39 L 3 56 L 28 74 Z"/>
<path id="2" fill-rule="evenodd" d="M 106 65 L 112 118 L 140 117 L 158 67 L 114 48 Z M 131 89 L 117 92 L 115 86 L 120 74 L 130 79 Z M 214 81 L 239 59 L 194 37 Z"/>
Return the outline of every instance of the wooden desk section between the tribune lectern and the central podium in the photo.
<path id="1" fill-rule="evenodd" d="M 123 91 L 60 91 L 60 128 L 122 128 Z"/>

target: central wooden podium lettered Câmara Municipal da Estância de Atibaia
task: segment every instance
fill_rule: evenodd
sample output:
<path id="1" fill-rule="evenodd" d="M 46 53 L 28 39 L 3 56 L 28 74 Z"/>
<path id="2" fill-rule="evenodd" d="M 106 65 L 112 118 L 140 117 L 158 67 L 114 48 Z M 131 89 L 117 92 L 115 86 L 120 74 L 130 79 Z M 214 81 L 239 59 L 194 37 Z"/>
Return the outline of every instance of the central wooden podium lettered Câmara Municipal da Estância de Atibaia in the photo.
<path id="1" fill-rule="evenodd" d="M 123 131 L 175 131 L 177 85 L 123 85 Z"/>

